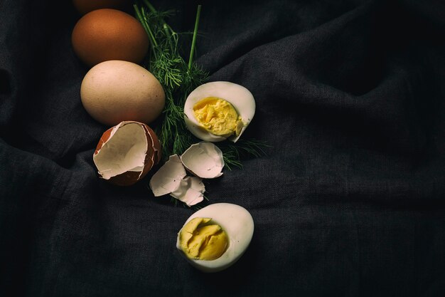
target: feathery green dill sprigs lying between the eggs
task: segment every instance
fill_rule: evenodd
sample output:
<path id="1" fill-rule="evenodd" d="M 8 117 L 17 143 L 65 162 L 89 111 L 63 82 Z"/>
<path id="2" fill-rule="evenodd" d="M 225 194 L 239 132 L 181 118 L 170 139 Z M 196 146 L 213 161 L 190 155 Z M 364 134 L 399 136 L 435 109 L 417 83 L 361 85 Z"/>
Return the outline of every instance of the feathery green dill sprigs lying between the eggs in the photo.
<path id="1" fill-rule="evenodd" d="M 190 32 L 177 33 L 166 23 L 173 16 L 172 10 L 157 11 L 148 0 L 136 0 L 134 11 L 149 36 L 151 50 L 144 66 L 159 80 L 166 94 L 166 105 L 154 130 L 162 146 L 163 162 L 170 155 L 181 155 L 193 143 L 200 140 L 193 136 L 184 121 L 183 106 L 188 94 L 208 80 L 208 72 L 193 61 L 200 20 L 201 6 L 198 5 L 195 26 L 192 33 L 191 49 L 186 62 L 180 53 L 179 38 Z M 225 167 L 242 168 L 242 157 L 264 155 L 265 142 L 259 140 L 238 140 L 215 143 L 223 151 Z"/>

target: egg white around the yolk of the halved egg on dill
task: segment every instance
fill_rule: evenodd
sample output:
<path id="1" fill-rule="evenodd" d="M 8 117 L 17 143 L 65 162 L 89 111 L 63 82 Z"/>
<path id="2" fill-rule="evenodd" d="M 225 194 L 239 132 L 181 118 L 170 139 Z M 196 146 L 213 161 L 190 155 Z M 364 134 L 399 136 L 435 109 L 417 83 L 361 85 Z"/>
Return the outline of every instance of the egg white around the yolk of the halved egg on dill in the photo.
<path id="1" fill-rule="evenodd" d="M 241 128 L 240 135 L 232 135 L 228 138 L 213 135 L 198 123 L 198 120 L 196 120 L 193 114 L 193 105 L 207 97 L 221 98 L 233 105 L 242 119 L 243 127 Z M 188 95 L 184 105 L 184 120 L 188 130 L 201 140 L 219 142 L 227 139 L 236 142 L 252 121 L 255 108 L 254 97 L 247 88 L 228 81 L 214 81 L 198 86 L 198 88 L 195 88 L 195 90 Z"/>

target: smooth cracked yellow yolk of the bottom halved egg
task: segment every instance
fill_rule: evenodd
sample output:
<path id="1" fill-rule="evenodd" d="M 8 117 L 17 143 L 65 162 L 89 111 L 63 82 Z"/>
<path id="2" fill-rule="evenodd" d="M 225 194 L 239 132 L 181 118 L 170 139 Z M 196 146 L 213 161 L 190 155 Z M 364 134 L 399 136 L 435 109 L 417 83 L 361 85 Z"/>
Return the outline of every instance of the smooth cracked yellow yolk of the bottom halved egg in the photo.
<path id="1" fill-rule="evenodd" d="M 188 258 L 215 260 L 227 249 L 227 234 L 220 225 L 209 223 L 210 220 L 193 218 L 179 232 L 181 249 Z"/>

